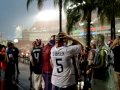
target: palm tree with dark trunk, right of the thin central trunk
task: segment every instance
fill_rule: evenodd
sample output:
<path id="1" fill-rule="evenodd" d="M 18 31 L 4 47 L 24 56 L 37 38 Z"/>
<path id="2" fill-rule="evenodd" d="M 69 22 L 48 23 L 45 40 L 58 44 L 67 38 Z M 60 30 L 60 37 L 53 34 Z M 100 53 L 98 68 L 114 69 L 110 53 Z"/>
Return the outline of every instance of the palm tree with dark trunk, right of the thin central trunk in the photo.
<path id="1" fill-rule="evenodd" d="M 86 37 L 86 44 L 89 47 L 90 46 L 90 40 L 91 40 L 91 33 L 90 33 L 90 27 L 91 27 L 91 15 L 92 11 L 96 10 L 97 8 L 97 0 L 66 0 L 64 2 L 64 6 L 67 5 L 69 2 L 71 2 L 71 6 L 76 5 L 73 9 L 67 10 L 67 31 L 71 32 L 72 25 L 77 23 L 81 18 L 81 12 L 83 13 L 82 20 L 87 22 L 87 37 Z"/>

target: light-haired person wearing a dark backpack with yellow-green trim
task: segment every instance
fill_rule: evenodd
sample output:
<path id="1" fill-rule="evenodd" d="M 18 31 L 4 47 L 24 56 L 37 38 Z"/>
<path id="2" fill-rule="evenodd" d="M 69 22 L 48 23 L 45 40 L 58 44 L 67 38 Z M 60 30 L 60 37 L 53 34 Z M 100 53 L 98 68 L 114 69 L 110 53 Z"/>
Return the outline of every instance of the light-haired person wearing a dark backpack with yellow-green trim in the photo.
<path id="1" fill-rule="evenodd" d="M 104 43 L 104 35 L 98 34 L 96 39 L 97 47 L 92 65 L 92 90 L 109 90 L 108 89 L 108 47 Z"/>

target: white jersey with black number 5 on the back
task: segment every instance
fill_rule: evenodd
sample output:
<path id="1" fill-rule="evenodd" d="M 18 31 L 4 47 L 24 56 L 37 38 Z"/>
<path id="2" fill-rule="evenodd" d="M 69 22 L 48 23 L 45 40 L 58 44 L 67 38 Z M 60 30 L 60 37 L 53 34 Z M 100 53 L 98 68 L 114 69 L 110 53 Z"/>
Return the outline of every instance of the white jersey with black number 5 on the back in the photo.
<path id="1" fill-rule="evenodd" d="M 53 63 L 52 84 L 66 88 L 76 83 L 72 57 L 80 52 L 80 45 L 53 47 L 51 60 Z"/>

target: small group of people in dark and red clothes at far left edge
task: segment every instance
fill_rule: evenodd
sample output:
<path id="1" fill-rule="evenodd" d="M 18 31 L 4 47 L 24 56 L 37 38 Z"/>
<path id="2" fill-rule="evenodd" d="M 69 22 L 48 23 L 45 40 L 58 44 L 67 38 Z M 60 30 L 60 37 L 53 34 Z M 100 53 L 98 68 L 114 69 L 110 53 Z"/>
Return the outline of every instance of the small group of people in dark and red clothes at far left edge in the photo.
<path id="1" fill-rule="evenodd" d="M 0 90 L 13 90 L 13 83 L 20 73 L 18 55 L 19 50 L 12 42 L 8 42 L 7 46 L 0 44 Z"/>

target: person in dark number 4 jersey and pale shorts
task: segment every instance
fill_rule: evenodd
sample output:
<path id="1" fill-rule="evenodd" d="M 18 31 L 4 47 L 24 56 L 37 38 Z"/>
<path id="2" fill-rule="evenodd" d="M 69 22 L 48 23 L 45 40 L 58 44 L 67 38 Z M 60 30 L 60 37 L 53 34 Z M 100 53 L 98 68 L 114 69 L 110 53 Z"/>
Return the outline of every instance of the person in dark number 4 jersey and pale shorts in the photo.
<path id="1" fill-rule="evenodd" d="M 34 72 L 34 89 L 35 90 L 43 90 L 42 87 L 42 50 L 43 47 L 41 47 L 41 40 L 36 39 L 36 41 L 33 42 L 33 49 L 31 51 L 32 56 L 32 67 Z"/>

